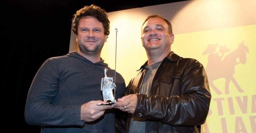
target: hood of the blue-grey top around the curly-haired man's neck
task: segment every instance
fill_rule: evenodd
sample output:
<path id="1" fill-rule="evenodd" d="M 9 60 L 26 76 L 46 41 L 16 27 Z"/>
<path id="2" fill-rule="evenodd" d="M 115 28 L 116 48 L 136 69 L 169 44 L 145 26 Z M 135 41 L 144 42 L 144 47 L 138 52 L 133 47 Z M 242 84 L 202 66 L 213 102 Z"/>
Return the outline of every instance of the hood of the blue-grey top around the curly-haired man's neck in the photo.
<path id="1" fill-rule="evenodd" d="M 89 63 L 89 64 L 94 64 L 94 65 L 99 65 L 99 66 L 108 66 L 107 63 L 104 63 L 104 60 L 103 60 L 102 58 L 100 58 L 101 61 L 99 61 L 99 62 L 97 62 L 97 63 L 93 63 L 93 62 L 91 62 L 90 60 L 88 60 L 88 59 L 86 59 L 85 57 L 83 57 L 82 55 L 80 55 L 77 50 L 74 50 L 74 51 L 72 51 L 72 52 L 69 52 L 66 56 L 69 56 L 69 57 L 73 57 L 73 58 L 82 60 L 82 61 L 87 62 L 87 63 Z"/>

